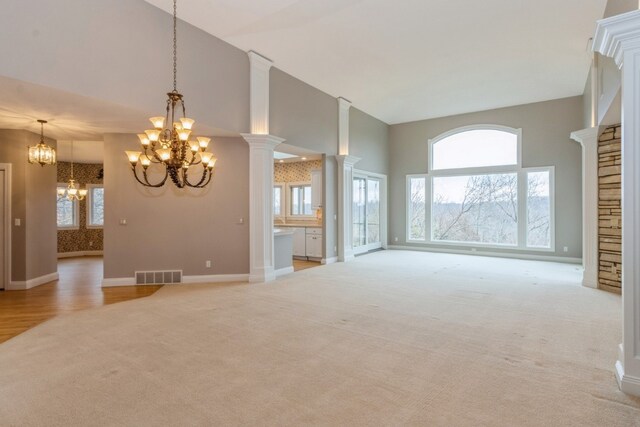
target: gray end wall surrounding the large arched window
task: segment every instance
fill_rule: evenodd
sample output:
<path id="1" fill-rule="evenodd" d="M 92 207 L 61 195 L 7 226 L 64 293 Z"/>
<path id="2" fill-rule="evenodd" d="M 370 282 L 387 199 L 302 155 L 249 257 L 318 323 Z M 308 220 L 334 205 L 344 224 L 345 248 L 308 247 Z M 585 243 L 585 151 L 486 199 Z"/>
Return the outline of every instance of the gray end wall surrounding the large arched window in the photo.
<path id="1" fill-rule="evenodd" d="M 390 129 L 389 242 L 406 242 L 406 175 L 427 173 L 427 140 L 448 130 L 474 124 L 522 128 L 522 166 L 555 166 L 556 252 L 582 256 L 582 188 L 580 145 L 569 138 L 583 127 L 582 96 L 392 125 Z M 398 241 L 394 241 L 395 237 Z M 563 252 L 568 246 L 569 251 Z M 438 245 L 439 248 L 443 246 Z M 459 247 L 456 247 L 459 249 Z M 491 249 L 497 252 L 498 249 Z M 527 251 L 507 251 L 527 254 Z M 530 252 L 540 254 L 539 252 Z M 546 254 L 546 253 L 545 253 Z"/>

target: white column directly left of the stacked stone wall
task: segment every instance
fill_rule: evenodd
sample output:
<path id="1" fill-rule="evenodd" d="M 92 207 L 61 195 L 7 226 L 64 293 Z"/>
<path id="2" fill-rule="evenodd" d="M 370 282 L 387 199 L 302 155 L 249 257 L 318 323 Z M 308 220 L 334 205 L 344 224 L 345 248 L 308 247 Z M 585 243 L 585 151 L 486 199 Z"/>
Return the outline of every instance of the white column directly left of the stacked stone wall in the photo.
<path id="1" fill-rule="evenodd" d="M 598 136 L 600 128 L 571 132 L 582 146 L 582 285 L 598 288 Z"/>

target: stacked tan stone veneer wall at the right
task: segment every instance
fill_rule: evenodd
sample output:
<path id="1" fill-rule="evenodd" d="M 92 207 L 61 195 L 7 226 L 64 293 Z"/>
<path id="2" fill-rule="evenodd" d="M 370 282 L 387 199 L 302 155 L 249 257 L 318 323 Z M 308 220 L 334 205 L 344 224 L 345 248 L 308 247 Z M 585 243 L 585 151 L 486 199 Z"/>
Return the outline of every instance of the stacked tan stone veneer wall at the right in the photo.
<path id="1" fill-rule="evenodd" d="M 622 289 L 622 127 L 607 127 L 598 139 L 598 287 Z"/>

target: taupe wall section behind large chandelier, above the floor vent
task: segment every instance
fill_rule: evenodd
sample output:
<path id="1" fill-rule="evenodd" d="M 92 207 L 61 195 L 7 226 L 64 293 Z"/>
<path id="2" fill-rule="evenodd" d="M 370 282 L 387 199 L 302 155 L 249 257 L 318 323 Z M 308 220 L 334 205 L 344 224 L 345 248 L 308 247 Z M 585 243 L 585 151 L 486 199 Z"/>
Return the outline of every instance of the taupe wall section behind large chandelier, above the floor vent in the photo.
<path id="1" fill-rule="evenodd" d="M 214 138 L 213 181 L 204 191 L 191 192 L 171 183 L 161 189 L 135 183 L 123 151 L 138 146 L 135 135 L 104 138 L 104 277 L 171 269 L 185 275 L 249 273 L 248 144 L 242 138 Z M 127 225 L 120 225 L 121 219 Z"/>

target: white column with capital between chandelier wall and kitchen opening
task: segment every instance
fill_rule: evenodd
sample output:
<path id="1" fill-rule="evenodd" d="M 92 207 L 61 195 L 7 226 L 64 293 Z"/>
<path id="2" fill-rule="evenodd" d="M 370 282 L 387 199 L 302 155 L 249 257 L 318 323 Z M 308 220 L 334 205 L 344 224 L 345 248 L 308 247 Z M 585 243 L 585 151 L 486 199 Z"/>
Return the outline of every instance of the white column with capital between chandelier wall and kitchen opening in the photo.
<path id="1" fill-rule="evenodd" d="M 273 149 L 284 139 L 242 134 L 249 143 L 249 281 L 276 278 L 273 259 Z"/>

